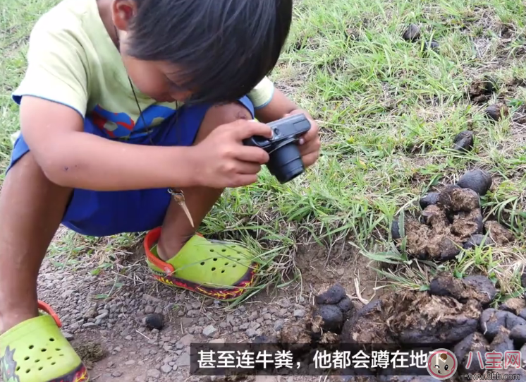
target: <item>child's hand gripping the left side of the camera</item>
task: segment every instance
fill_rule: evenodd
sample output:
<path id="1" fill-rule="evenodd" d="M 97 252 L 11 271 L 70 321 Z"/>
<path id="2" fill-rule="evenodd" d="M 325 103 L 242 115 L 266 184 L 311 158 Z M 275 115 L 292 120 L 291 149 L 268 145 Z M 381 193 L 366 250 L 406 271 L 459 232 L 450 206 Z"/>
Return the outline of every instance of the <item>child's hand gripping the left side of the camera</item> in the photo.
<path id="1" fill-rule="evenodd" d="M 192 161 L 197 166 L 197 183 L 214 189 L 255 183 L 269 154 L 262 148 L 243 145 L 243 140 L 252 136 L 271 138 L 272 130 L 265 124 L 240 119 L 217 127 L 195 145 Z"/>

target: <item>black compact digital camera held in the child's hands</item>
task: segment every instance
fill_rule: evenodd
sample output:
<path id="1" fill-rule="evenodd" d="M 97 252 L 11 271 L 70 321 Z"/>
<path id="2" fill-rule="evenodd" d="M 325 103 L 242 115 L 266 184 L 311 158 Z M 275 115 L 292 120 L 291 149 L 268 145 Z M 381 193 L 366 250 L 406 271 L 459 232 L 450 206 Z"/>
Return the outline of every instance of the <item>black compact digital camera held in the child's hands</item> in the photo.
<path id="1" fill-rule="evenodd" d="M 256 146 L 269 153 L 267 168 L 281 184 L 291 181 L 305 171 L 298 141 L 310 130 L 310 121 L 304 114 L 296 114 L 268 124 L 273 136 L 271 139 L 253 136 L 243 143 Z"/>

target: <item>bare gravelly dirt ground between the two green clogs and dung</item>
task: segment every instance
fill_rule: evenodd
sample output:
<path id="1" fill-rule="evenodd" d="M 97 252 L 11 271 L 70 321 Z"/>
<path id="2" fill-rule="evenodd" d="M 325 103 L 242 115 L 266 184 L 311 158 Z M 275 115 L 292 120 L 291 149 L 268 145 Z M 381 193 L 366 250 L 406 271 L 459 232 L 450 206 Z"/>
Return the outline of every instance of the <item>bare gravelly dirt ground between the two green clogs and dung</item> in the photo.
<path id="1" fill-rule="evenodd" d="M 91 368 L 90 381 L 202 381 L 209 377 L 190 375 L 190 343 L 239 343 L 259 335 L 275 336 L 283 325 L 305 316 L 314 295 L 334 282 L 344 285 L 357 304 L 367 303 L 376 293 L 377 275 L 357 253 L 348 248 L 338 251 L 331 260 L 326 249 L 300 249 L 296 258 L 302 284 L 260 292 L 232 310 L 152 280 L 140 249 L 118 256 L 117 268 L 98 275 L 82 265 L 87 258 L 77 258 L 78 267 L 62 267 L 67 257 L 47 258 L 39 277 L 39 299 L 59 314 L 63 332 Z M 155 313 L 164 317 L 160 331 L 143 320 Z M 320 377 L 257 378 L 272 382 Z"/>

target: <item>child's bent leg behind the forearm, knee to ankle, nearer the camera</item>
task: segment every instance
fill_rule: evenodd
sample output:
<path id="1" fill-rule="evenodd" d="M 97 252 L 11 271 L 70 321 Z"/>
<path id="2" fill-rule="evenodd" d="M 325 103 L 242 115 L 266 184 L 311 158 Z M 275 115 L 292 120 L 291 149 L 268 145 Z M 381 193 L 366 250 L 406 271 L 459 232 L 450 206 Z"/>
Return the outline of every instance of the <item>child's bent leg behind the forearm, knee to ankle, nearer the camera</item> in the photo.
<path id="1" fill-rule="evenodd" d="M 204 140 L 216 127 L 238 119 L 252 119 L 250 111 L 240 103 L 211 107 L 204 115 L 194 144 Z M 188 206 L 188 210 L 190 210 L 195 227 L 190 225 L 190 221 L 181 207 L 175 201 L 171 201 L 164 218 L 161 237 L 159 238 L 159 257 L 166 261 L 178 253 L 185 242 L 195 235 L 197 227 L 199 227 L 223 191 L 223 189 L 209 189 L 206 187 L 183 189 L 185 203 Z"/>

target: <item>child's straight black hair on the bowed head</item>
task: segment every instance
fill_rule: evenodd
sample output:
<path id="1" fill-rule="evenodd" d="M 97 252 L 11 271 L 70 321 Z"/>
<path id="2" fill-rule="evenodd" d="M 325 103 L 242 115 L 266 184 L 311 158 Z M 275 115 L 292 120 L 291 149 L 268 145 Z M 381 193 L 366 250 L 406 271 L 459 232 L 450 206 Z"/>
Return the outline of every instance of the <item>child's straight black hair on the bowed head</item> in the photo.
<path id="1" fill-rule="evenodd" d="M 187 103 L 233 102 L 268 76 L 286 43 L 293 0 L 135 0 L 128 54 L 176 64 Z"/>

